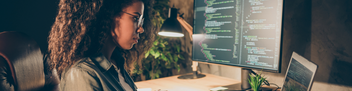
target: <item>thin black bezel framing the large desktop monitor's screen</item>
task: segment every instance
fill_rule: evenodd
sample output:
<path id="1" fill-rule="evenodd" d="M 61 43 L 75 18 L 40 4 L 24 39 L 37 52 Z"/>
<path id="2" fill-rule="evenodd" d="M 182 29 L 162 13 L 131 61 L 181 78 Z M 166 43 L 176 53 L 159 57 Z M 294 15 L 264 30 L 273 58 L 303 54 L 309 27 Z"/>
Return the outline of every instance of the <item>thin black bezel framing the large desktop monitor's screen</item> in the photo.
<path id="1" fill-rule="evenodd" d="M 195 26 L 194 24 L 194 20 L 195 20 L 195 16 L 196 16 L 196 12 L 195 12 L 195 7 L 196 5 L 196 0 L 193 0 L 193 21 L 192 21 L 192 24 L 193 24 L 193 27 Z M 268 72 L 275 72 L 275 73 L 281 73 L 281 63 L 282 63 L 282 44 L 283 44 L 283 33 L 284 33 L 284 8 L 285 8 L 285 0 L 282 0 L 282 13 L 281 13 L 281 37 L 280 37 L 280 56 L 279 56 L 279 61 L 278 61 L 278 69 L 277 70 L 271 70 L 271 69 L 261 69 L 261 68 L 256 68 L 256 67 L 248 67 L 248 66 L 241 66 L 241 65 L 228 65 L 228 64 L 220 64 L 220 63 L 216 63 L 216 62 L 213 62 L 213 61 L 199 61 L 199 60 L 195 60 L 193 59 L 193 50 L 192 50 L 192 61 L 197 61 L 199 63 L 204 63 L 204 64 L 213 64 L 213 65 L 221 65 L 221 66 L 231 66 L 231 67 L 239 67 L 239 68 L 242 68 L 242 69 L 252 69 L 252 70 L 261 70 L 261 71 L 268 71 Z M 193 34 L 195 32 L 195 28 L 193 28 Z M 194 39 L 193 39 L 194 40 Z M 193 46 L 194 45 L 194 41 L 192 41 L 192 49 L 193 49 Z"/>

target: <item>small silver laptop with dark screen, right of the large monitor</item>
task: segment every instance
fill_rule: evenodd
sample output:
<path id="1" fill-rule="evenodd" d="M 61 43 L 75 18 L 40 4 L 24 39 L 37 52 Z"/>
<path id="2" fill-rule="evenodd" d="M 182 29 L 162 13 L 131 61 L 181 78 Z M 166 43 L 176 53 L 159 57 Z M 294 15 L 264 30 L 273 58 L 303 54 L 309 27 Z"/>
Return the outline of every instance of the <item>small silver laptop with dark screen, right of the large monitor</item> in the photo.
<path id="1" fill-rule="evenodd" d="M 293 52 L 281 91 L 310 91 L 318 65 Z"/>

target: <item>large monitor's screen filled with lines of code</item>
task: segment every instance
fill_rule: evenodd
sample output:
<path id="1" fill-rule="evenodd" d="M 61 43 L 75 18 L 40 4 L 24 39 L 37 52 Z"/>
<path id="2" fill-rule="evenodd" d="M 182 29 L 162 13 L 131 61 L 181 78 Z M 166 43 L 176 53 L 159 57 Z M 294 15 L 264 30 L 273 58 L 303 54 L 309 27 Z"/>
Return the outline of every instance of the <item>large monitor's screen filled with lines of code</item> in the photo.
<path id="1" fill-rule="evenodd" d="M 195 0 L 192 59 L 280 72 L 283 0 Z"/>

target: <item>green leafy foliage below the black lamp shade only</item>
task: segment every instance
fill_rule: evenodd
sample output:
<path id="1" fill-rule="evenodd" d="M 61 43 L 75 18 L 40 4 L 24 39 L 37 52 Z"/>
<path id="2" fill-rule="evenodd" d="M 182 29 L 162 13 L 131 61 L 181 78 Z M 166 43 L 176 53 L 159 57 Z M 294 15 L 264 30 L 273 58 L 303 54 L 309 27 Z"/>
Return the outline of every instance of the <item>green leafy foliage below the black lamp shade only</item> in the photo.
<path id="1" fill-rule="evenodd" d="M 168 42 L 172 41 L 172 42 Z M 180 71 L 181 54 L 180 41 L 177 39 L 157 37 L 154 46 L 147 51 L 144 60 L 144 73 L 148 79 L 172 76 L 172 69 Z"/>

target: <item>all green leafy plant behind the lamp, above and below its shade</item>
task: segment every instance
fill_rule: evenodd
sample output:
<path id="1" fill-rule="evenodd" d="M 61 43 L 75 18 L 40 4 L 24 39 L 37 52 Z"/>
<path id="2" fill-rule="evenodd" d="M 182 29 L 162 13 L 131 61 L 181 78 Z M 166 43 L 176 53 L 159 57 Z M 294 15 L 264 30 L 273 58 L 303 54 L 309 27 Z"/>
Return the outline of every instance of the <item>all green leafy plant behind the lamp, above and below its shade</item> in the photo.
<path id="1" fill-rule="evenodd" d="M 168 16 L 169 0 L 156 0 L 153 11 L 153 25 L 160 28 Z M 142 74 L 149 80 L 173 76 L 172 70 L 179 72 L 180 64 L 185 63 L 183 54 L 180 38 L 156 36 L 152 48 L 145 54 L 144 70 L 134 70 L 134 77 Z"/>

